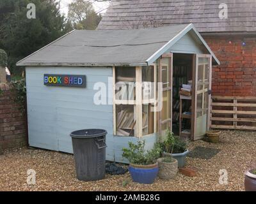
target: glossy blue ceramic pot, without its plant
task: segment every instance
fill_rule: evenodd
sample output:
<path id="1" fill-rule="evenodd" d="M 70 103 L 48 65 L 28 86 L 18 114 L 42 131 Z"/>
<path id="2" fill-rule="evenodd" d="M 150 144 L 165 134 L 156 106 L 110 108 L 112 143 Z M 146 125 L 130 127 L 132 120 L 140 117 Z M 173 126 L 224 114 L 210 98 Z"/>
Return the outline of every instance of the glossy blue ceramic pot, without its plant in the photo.
<path id="1" fill-rule="evenodd" d="M 130 164 L 128 168 L 132 180 L 140 184 L 153 184 L 159 171 L 158 164 L 136 165 Z"/>

